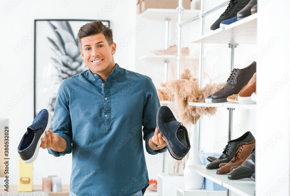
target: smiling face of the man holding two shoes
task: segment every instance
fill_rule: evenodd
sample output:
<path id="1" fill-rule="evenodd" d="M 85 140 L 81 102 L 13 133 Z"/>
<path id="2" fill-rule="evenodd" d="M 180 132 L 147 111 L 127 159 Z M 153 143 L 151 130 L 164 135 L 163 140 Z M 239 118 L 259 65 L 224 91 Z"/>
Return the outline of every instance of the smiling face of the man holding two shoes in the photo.
<path id="1" fill-rule="evenodd" d="M 115 67 L 113 55 L 116 52 L 116 44 L 111 46 L 103 33 L 81 38 L 81 55 L 86 66 L 92 73 L 106 75 Z"/>

